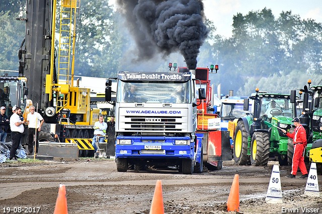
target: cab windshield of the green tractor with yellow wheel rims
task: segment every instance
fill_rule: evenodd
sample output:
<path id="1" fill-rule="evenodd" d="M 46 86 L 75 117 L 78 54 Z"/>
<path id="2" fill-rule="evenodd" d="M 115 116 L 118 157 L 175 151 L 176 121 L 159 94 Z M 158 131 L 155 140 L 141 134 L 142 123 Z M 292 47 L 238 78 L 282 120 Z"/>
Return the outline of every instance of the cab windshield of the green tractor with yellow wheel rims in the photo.
<path id="1" fill-rule="evenodd" d="M 293 118 L 295 109 L 288 98 L 269 98 L 262 100 L 261 116 L 267 115 L 268 118 L 274 116 L 285 116 Z"/>

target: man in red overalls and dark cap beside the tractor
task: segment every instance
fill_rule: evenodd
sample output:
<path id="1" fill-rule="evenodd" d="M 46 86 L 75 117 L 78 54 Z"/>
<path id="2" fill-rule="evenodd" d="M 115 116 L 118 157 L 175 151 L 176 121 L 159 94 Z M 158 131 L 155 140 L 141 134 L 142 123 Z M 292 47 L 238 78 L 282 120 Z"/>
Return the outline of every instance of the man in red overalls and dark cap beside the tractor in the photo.
<path id="1" fill-rule="evenodd" d="M 294 153 L 293 153 L 293 161 L 292 161 L 292 171 L 291 174 L 287 175 L 287 178 L 295 178 L 297 168 L 300 167 L 302 172 L 302 176 L 299 179 L 307 178 L 307 170 L 304 163 L 303 152 L 306 147 L 306 131 L 304 127 L 301 125 L 300 120 L 298 118 L 294 118 L 292 120 L 295 126 L 294 132 L 288 133 L 284 129 L 283 133 L 286 133 L 286 136 L 293 139 Z"/>

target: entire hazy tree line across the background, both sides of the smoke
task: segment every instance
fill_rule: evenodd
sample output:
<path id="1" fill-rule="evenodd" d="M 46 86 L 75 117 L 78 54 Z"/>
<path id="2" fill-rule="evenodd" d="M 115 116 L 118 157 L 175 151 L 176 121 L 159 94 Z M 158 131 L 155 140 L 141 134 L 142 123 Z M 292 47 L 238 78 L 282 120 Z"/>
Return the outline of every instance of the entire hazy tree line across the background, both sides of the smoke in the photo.
<path id="1" fill-rule="evenodd" d="M 18 50 L 24 22 L 16 21 L 24 5 L 18 0 L 0 3 L 0 69 L 18 70 Z M 22 1 L 24 2 L 24 1 Z M 270 9 L 233 16 L 230 38 L 220 36 L 206 20 L 210 33 L 200 49 L 197 67 L 219 64 L 210 76 L 222 92 L 237 95 L 261 91 L 289 93 L 310 78 L 322 80 L 322 26 L 291 12 L 275 18 Z M 136 46 L 126 22 L 104 0 L 83 0 L 77 21 L 75 75 L 115 77 L 117 70 L 165 71 L 168 62 L 185 66 L 183 57 L 172 54 L 150 61 L 136 59 Z M 322 83 L 320 83 L 322 84 Z"/>

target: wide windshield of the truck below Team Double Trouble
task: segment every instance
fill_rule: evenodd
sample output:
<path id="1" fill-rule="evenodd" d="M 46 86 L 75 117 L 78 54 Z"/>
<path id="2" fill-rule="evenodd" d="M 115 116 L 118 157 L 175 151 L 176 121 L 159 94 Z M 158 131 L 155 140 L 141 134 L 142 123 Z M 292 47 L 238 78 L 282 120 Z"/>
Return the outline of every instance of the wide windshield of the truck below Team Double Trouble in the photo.
<path id="1" fill-rule="evenodd" d="M 117 102 L 190 103 L 191 83 L 190 81 L 124 82 L 119 80 Z"/>

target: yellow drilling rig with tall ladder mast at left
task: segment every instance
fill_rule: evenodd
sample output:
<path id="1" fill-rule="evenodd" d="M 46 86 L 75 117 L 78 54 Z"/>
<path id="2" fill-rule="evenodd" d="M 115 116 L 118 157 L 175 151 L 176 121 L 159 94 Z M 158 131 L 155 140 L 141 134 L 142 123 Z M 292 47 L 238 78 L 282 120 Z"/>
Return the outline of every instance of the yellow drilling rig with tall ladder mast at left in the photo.
<path id="1" fill-rule="evenodd" d="M 26 18 L 21 19 L 28 21 L 19 50 L 19 75 L 27 77 L 27 98 L 38 104 L 45 120 L 40 141 L 52 141 L 55 135 L 60 142 L 93 138 L 99 110 L 91 109 L 90 89 L 74 86 L 73 80 L 78 12 L 79 0 L 34 0 L 27 1 Z M 81 155 L 93 150 L 90 141 L 86 145 L 79 146 Z"/>

